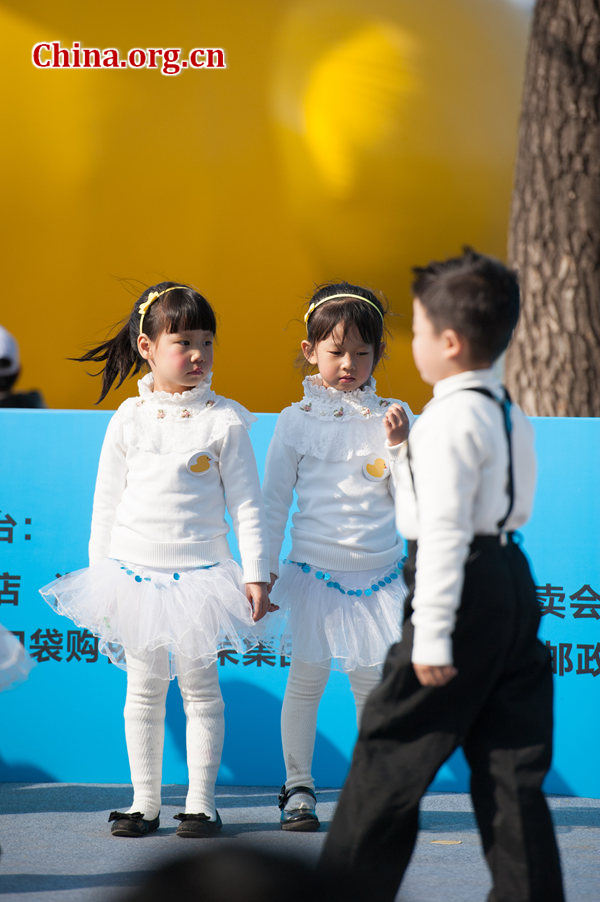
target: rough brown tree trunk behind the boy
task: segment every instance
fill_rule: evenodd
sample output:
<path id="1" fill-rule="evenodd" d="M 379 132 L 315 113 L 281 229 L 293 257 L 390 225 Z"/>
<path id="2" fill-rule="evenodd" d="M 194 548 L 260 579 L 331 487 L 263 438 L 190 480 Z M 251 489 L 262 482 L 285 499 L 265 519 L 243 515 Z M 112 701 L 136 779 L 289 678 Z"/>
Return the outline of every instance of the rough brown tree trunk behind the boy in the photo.
<path id="1" fill-rule="evenodd" d="M 507 383 L 537 416 L 600 416 L 600 0 L 537 0 L 509 259 Z"/>

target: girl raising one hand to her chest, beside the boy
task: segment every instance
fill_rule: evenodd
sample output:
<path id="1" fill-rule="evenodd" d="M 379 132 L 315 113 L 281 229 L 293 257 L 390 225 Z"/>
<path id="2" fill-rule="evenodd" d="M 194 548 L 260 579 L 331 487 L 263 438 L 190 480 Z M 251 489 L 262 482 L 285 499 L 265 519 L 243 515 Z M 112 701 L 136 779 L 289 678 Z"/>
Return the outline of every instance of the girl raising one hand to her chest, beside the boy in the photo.
<path id="1" fill-rule="evenodd" d="M 317 709 L 329 671 L 345 671 L 360 720 L 389 646 L 401 630 L 403 545 L 396 533 L 386 417 L 408 435 L 407 405 L 375 393 L 385 309 L 370 290 L 326 285 L 311 299 L 302 351 L 318 373 L 282 411 L 269 448 L 263 496 L 273 601 L 289 616 L 291 666 L 281 715 L 284 830 L 316 830 L 311 764 Z M 292 549 L 279 552 L 296 491 Z M 277 582 L 275 582 L 277 580 Z"/>

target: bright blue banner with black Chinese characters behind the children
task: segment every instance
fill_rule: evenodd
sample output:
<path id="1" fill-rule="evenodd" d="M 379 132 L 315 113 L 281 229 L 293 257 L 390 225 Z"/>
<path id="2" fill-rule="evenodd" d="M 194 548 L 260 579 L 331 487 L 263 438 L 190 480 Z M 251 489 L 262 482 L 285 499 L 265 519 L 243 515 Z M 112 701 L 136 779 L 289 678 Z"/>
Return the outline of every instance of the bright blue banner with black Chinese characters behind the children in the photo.
<path id="1" fill-rule="evenodd" d="M 125 674 L 95 637 L 38 594 L 57 574 L 87 564 L 100 446 L 110 414 L 0 411 L 0 622 L 37 665 L 0 696 L 0 780 L 128 782 L 122 711 Z M 252 441 L 262 471 L 275 424 L 262 414 Z M 555 754 L 550 792 L 599 798 L 600 420 L 534 420 L 539 460 L 534 515 L 523 530 L 555 672 Z M 231 534 L 232 549 L 237 554 Z M 286 548 L 283 552 L 285 554 Z M 284 769 L 279 714 L 289 660 L 223 653 L 226 739 L 219 782 L 276 785 Z M 314 775 L 339 786 L 356 736 L 347 678 L 332 673 L 319 709 Z M 177 685 L 167 698 L 163 779 L 186 783 L 185 719 Z M 464 792 L 460 753 L 433 788 Z"/>

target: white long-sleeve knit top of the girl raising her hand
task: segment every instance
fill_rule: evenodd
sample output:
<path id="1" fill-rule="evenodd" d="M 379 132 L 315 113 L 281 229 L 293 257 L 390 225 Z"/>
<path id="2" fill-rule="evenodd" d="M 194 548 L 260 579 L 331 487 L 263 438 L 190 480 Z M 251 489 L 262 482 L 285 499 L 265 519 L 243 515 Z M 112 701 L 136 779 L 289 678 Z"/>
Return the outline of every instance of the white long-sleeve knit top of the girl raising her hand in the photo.
<path id="1" fill-rule="evenodd" d="M 279 572 L 294 491 L 290 559 L 331 570 L 385 568 L 403 551 L 383 425 L 392 401 L 379 398 L 374 384 L 343 392 L 318 376 L 305 379 L 304 390 L 282 411 L 267 455 L 271 571 Z"/>

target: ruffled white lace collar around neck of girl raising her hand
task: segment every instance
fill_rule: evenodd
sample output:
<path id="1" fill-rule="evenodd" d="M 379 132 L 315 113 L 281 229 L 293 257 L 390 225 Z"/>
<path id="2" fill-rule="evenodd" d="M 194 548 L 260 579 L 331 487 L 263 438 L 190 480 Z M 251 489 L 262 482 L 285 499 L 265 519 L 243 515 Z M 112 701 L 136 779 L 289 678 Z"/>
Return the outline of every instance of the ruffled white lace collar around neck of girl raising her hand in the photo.
<path id="1" fill-rule="evenodd" d="M 323 385 L 321 376 L 307 376 L 302 383 L 304 398 L 295 405 L 309 416 L 319 419 L 347 420 L 349 418 L 368 419 L 382 416 L 392 403 L 387 398 L 379 398 L 375 393 L 375 380 L 371 376 L 363 388 L 354 391 L 340 391 Z"/>

